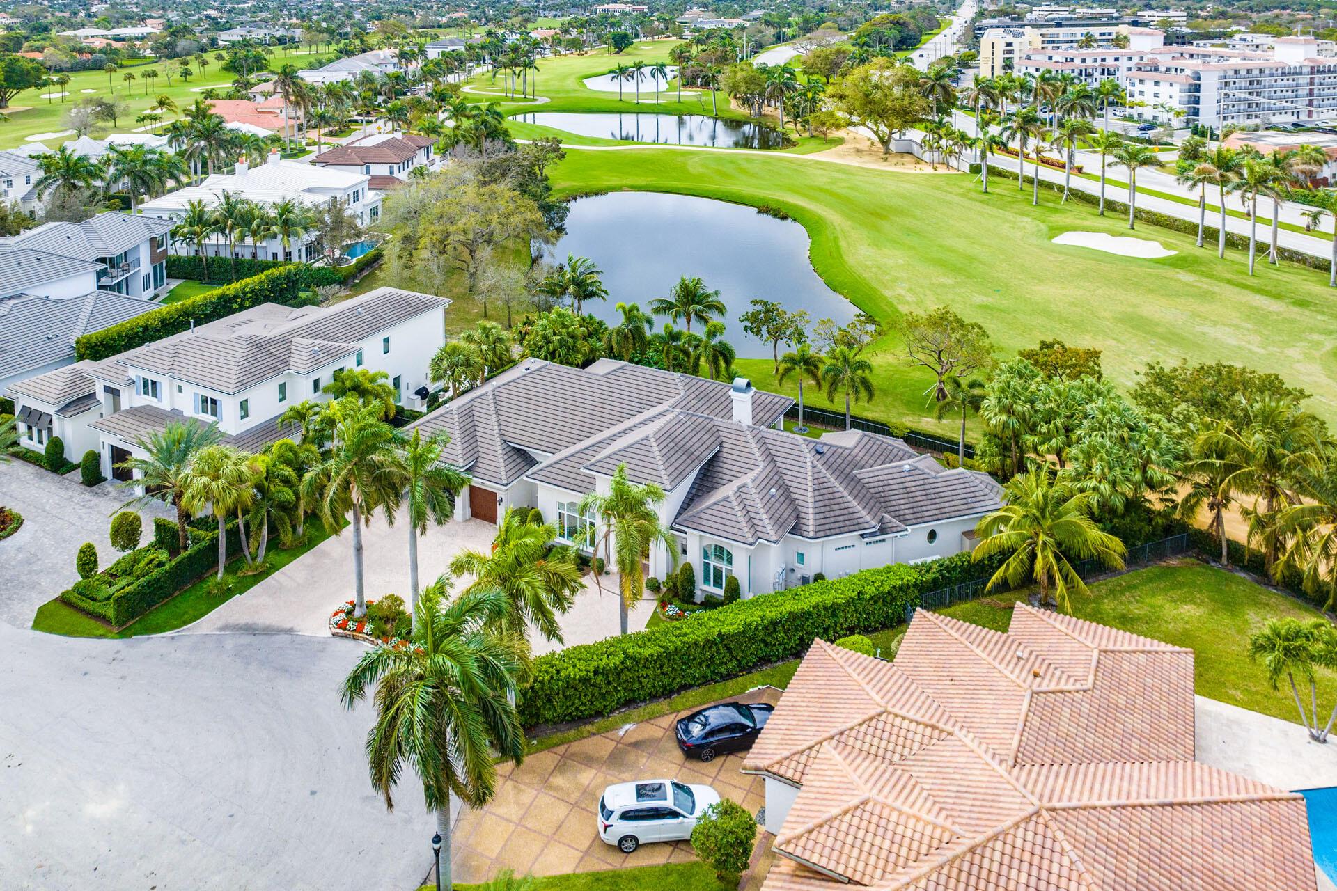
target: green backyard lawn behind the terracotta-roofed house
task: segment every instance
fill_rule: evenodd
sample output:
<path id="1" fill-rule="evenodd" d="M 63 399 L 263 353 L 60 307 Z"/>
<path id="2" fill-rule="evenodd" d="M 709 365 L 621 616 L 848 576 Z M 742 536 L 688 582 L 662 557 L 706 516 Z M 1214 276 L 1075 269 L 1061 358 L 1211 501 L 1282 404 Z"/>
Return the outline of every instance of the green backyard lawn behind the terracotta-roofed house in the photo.
<path id="1" fill-rule="evenodd" d="M 1098 582 L 1091 586 L 1091 594 L 1074 597 L 1075 616 L 1193 649 L 1194 688 L 1201 696 L 1297 720 L 1289 691 L 1273 691 L 1262 667 L 1250 661 L 1249 636 L 1269 618 L 1317 618 L 1316 609 L 1194 560 Z M 1024 594 L 989 596 L 943 613 L 1005 631 L 1011 609 L 989 601 L 1011 602 L 1020 596 Z M 1320 709 L 1330 709 L 1334 700 L 1337 675 L 1324 671 L 1318 687 Z"/>

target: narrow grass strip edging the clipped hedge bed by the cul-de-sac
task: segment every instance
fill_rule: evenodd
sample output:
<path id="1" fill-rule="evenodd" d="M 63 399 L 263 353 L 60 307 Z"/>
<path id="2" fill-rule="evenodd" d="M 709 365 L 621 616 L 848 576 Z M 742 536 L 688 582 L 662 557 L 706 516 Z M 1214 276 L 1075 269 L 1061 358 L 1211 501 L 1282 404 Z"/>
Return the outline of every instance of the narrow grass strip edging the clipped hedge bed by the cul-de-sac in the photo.
<path id="1" fill-rule="evenodd" d="M 246 593 L 329 537 L 330 533 L 325 530 L 324 524 L 308 520 L 306 541 L 302 545 L 290 550 L 282 550 L 270 538 L 269 550 L 265 553 L 265 560 L 270 566 L 269 572 L 242 576 L 239 570 L 246 564 L 239 558 L 234 560 L 227 565 L 227 570 L 225 572 L 226 577 L 231 577 L 235 581 L 231 592 L 227 594 L 217 596 L 210 592 L 209 582 L 214 578 L 214 574 L 210 573 L 167 602 L 126 625 L 119 632 L 70 606 L 59 597 L 47 601 L 37 609 L 37 614 L 32 620 L 32 628 L 33 631 L 44 631 L 48 635 L 64 635 L 66 637 L 139 637 L 142 635 L 160 635 L 185 628 L 193 621 L 214 612 L 233 597 Z"/>

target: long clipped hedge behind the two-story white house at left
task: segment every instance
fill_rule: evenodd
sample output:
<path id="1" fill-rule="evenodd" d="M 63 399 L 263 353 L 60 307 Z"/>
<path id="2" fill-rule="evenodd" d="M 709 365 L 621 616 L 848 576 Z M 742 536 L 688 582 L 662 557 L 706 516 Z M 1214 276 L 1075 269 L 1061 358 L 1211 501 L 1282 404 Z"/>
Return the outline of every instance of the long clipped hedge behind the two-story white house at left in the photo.
<path id="1" fill-rule="evenodd" d="M 309 306 L 313 298 L 303 294 L 305 289 L 337 281 L 338 275 L 329 269 L 297 263 L 285 264 L 235 285 L 225 285 L 207 294 L 170 303 L 100 331 L 84 334 L 75 341 L 75 358 L 106 359 L 136 346 L 179 334 L 190 329 L 191 322 L 203 325 L 261 303 Z"/>

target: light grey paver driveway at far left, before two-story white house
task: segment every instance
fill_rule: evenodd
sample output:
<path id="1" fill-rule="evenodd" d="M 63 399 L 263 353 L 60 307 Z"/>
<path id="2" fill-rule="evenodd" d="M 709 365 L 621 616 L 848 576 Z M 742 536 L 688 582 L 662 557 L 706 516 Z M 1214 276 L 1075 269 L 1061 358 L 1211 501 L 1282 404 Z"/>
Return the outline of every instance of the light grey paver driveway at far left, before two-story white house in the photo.
<path id="1" fill-rule="evenodd" d="M 23 526 L 0 541 L 0 621 L 29 628 L 37 606 L 79 580 L 75 554 L 91 541 L 102 565 L 118 556 L 107 538 L 111 514 L 126 504 L 127 494 L 102 484 L 92 489 L 79 482 L 79 473 L 57 477 L 23 461 L 0 464 L 0 505 L 23 514 Z M 152 536 L 152 518 L 175 518 L 167 505 L 136 506 L 144 518 L 144 541 Z"/>

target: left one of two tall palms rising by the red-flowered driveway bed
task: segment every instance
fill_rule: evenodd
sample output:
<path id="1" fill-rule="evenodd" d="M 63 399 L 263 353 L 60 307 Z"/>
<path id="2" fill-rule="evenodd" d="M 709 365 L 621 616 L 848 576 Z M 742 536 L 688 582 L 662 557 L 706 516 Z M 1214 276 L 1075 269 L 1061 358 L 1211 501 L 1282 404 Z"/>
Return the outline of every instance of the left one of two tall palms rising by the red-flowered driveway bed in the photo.
<path id="1" fill-rule="evenodd" d="M 381 421 L 377 406 L 349 401 L 334 410 L 329 454 L 302 477 L 302 498 L 320 506 L 321 520 L 334 534 L 342 533 L 344 517 L 353 526 L 353 616 L 366 614 L 362 573 L 362 524 L 372 522 L 378 508 L 394 522 L 402 497 L 404 468 L 394 450 L 394 430 Z"/>

